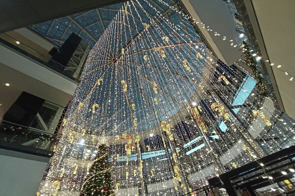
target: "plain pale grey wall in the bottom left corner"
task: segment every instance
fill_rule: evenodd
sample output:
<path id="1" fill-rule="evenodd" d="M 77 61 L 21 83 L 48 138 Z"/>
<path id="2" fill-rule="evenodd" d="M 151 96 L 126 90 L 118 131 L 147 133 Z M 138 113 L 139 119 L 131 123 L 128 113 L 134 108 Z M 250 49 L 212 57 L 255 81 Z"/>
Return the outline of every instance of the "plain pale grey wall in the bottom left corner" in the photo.
<path id="1" fill-rule="evenodd" d="M 46 161 L 47 158 L 0 149 L 0 195 L 35 196 Z"/>

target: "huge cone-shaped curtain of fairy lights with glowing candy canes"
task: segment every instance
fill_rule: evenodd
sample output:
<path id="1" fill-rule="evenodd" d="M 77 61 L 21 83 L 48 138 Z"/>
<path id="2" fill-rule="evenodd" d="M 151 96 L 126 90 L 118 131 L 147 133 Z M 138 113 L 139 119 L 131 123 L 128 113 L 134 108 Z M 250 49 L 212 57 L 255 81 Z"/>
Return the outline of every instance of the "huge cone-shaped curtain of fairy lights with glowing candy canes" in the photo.
<path id="1" fill-rule="evenodd" d="M 272 127 L 272 112 L 237 117 L 227 106 L 240 89 L 262 107 L 259 90 L 222 65 L 177 2 L 157 2 L 166 13 L 149 0 L 124 3 L 92 48 L 40 196 L 79 195 L 102 143 L 118 196 L 187 194 L 265 155 L 244 124 L 261 118 L 262 129 Z M 266 149 L 280 146 L 271 141 Z"/>

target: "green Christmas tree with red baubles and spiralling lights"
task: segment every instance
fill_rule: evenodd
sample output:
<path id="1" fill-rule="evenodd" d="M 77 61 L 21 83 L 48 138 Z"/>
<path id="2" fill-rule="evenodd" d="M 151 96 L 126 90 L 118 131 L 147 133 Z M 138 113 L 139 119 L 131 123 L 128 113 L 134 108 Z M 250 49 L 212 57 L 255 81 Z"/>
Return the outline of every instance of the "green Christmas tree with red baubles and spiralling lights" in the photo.
<path id="1" fill-rule="evenodd" d="M 91 163 L 89 174 L 82 186 L 80 196 L 112 196 L 113 180 L 108 162 L 108 147 L 101 144 L 94 161 Z"/>

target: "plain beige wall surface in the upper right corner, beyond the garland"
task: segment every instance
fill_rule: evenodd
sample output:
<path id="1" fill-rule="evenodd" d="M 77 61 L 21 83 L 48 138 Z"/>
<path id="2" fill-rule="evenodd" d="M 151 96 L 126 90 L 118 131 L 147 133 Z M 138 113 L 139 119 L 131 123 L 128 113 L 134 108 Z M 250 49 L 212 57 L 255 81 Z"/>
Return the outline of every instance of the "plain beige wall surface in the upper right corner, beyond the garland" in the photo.
<path id="1" fill-rule="evenodd" d="M 247 0 L 249 1 L 249 0 Z M 268 59 L 295 76 L 295 0 L 251 0 Z M 248 7 L 247 7 L 248 11 Z M 248 11 L 249 12 L 249 11 Z M 255 33 L 258 33 L 255 31 Z M 286 113 L 295 118 L 295 79 L 273 68 Z M 273 81 L 272 81 L 273 82 Z"/>

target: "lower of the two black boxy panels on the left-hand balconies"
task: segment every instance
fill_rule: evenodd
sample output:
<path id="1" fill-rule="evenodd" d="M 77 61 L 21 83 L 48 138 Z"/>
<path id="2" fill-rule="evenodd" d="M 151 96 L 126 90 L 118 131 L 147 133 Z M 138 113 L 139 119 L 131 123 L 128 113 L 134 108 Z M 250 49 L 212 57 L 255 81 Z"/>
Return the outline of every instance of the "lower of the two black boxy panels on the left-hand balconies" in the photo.
<path id="1" fill-rule="evenodd" d="M 41 99 L 28 92 L 22 92 L 14 104 L 4 114 L 3 120 L 29 127 L 44 104 Z"/>

